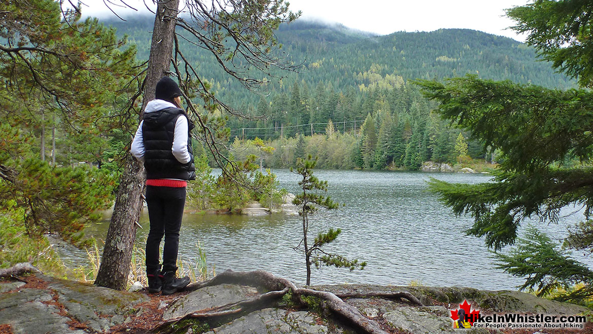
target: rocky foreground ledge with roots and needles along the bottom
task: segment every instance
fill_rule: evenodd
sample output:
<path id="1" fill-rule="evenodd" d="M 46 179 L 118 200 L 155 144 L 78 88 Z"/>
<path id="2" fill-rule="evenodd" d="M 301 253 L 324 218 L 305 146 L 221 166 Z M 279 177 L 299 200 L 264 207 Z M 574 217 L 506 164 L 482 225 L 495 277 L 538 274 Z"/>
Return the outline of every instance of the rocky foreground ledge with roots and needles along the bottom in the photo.
<path id="1" fill-rule="evenodd" d="M 250 277 L 250 273 L 244 273 L 247 275 L 244 277 Z M 114 291 L 39 273 L 4 279 L 0 281 L 0 333 L 359 332 L 352 323 L 334 314 L 331 311 L 333 308 L 323 299 L 301 298 L 305 302 L 298 304 L 287 298 L 290 294 L 286 293 L 278 300 L 264 302 L 261 296 L 266 296 L 270 291 L 250 283 L 200 285 L 192 292 L 161 296 L 144 291 Z M 545 300 L 518 291 L 379 285 L 319 285 L 309 289 L 342 296 L 346 307 L 362 314 L 362 319 L 378 324 L 383 333 L 458 333 L 458 330 L 452 329 L 449 310 L 458 307 L 458 303 L 463 300 L 486 314 L 520 312 L 572 315 L 588 312 L 581 306 Z M 369 297 L 372 296 L 371 292 L 377 291 L 382 292 L 382 297 Z M 406 297 L 391 298 L 394 293 L 409 293 L 412 299 L 416 297 L 420 303 L 413 303 Z M 247 308 L 246 301 L 250 300 L 256 300 L 257 303 L 251 303 Z M 209 314 L 209 317 L 200 318 L 196 314 Z M 549 330 L 538 333 L 586 333 L 593 330 L 591 323 L 585 327 L 584 330 L 572 332 Z"/>

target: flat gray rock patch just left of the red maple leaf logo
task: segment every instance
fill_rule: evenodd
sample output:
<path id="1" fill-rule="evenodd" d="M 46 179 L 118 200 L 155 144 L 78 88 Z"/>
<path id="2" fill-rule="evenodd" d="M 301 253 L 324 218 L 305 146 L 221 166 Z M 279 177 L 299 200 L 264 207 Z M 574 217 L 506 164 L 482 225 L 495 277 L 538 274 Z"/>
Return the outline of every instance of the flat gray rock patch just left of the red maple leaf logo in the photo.
<path id="1" fill-rule="evenodd" d="M 486 329 L 453 329 L 448 310 L 442 306 L 399 307 L 383 314 L 383 318 L 391 326 L 414 334 L 488 333 Z"/>

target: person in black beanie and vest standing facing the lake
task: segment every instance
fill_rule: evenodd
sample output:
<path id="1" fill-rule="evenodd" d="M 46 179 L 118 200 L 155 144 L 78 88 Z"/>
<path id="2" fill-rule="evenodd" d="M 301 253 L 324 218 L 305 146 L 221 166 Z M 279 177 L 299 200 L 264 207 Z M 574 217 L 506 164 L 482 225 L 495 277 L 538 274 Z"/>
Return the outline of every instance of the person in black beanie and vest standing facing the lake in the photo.
<path id="1" fill-rule="evenodd" d="M 181 90 L 173 79 L 163 77 L 155 100 L 146 104 L 130 151 L 144 161 L 146 205 L 150 231 L 146 239 L 148 292 L 164 295 L 183 290 L 189 277 L 177 278 L 179 231 L 188 180 L 195 179 L 190 131 L 193 123 L 181 108 Z M 162 267 L 159 247 L 165 237 Z M 162 269 L 162 270 L 161 270 Z"/>

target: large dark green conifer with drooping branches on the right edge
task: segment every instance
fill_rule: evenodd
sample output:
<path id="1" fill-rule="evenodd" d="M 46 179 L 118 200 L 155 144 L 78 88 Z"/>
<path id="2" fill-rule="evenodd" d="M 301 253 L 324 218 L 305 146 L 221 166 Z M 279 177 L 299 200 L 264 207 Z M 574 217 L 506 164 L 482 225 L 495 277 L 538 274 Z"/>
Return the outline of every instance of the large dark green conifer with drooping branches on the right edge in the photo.
<path id="1" fill-rule="evenodd" d="M 581 87 L 593 87 L 593 63 L 589 61 L 593 57 L 589 38 L 593 8 L 589 2 L 538 0 L 508 9 L 507 15 L 517 21 L 515 30 L 528 33 L 527 43 L 543 59 L 578 78 Z M 515 243 L 525 218 L 557 222 L 564 206 L 584 206 L 586 220 L 570 229 L 566 246 L 592 252 L 593 228 L 588 219 L 593 203 L 590 90 L 553 90 L 475 75 L 419 84 L 427 97 L 441 103 L 438 111 L 442 116 L 470 130 L 484 147 L 499 149 L 503 157 L 495 182 L 431 182 L 431 189 L 455 214 L 467 212 L 474 217 L 467 234 L 485 237 L 487 246 L 499 251 Z M 565 297 L 582 300 L 593 296 L 588 268 L 559 252 L 543 234 L 530 234 L 527 240 L 519 240 L 511 255 L 499 257 L 500 268 L 525 276 L 523 288 L 537 286 L 541 295 L 582 283 L 582 288 L 566 291 Z"/>

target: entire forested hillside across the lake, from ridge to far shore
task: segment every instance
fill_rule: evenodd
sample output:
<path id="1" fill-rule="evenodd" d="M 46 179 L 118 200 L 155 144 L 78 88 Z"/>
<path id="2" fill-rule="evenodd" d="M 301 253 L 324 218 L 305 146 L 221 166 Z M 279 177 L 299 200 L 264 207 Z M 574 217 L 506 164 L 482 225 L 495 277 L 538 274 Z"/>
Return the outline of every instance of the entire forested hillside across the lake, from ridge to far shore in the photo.
<path id="1" fill-rule="evenodd" d="M 129 35 L 129 42 L 138 46 L 139 58 L 148 57 L 151 20 L 136 17 L 108 23 L 119 34 Z M 270 71 L 270 84 L 261 95 L 225 75 L 207 51 L 196 47 L 188 55 L 221 100 L 243 113 L 267 115 L 263 120 L 230 119 L 228 125 L 231 141 L 256 136 L 269 140 L 276 147 L 273 157 L 266 159 L 271 167 L 286 167 L 297 155 L 312 152 L 328 156 L 327 161 L 320 160 L 324 168 L 416 169 L 426 160 L 454 162 L 458 158 L 455 141 L 471 134 L 459 138 L 459 131 L 431 115 L 434 105 L 422 97 L 410 82 L 413 79 L 473 74 L 549 88 L 575 86 L 575 81 L 553 72 L 549 63 L 538 61 L 533 48 L 480 31 L 441 29 L 375 36 L 299 20 L 281 26 L 276 36 L 285 56 L 302 66 L 298 72 Z M 180 39 L 180 43 L 187 42 Z M 243 66 L 240 59 L 234 62 Z M 275 80 L 275 75 L 283 78 Z M 329 120 L 336 133 L 336 138 L 331 136 L 333 150 L 343 151 L 335 159 L 318 147 L 331 146 L 318 142 L 330 140 Z M 324 139 L 314 140 L 319 133 Z M 304 153 L 295 151 L 299 134 L 306 136 L 301 139 Z M 480 143 L 470 140 L 469 148 L 471 157 L 484 157 Z M 280 158 L 279 152 L 288 155 Z"/>

